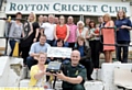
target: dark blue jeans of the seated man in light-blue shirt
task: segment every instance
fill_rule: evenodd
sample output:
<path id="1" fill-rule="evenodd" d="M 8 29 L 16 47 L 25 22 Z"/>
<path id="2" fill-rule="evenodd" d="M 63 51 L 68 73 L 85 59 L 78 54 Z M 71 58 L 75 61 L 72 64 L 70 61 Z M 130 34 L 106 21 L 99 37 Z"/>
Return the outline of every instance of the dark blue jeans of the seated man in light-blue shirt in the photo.
<path id="1" fill-rule="evenodd" d="M 50 61 L 51 61 L 51 59 L 47 58 L 45 64 L 48 64 Z M 31 67 L 32 67 L 33 65 L 36 65 L 36 64 L 37 64 L 37 60 L 34 59 L 33 57 L 29 56 L 29 57 L 26 58 L 26 65 L 28 65 L 29 69 L 31 69 Z"/>

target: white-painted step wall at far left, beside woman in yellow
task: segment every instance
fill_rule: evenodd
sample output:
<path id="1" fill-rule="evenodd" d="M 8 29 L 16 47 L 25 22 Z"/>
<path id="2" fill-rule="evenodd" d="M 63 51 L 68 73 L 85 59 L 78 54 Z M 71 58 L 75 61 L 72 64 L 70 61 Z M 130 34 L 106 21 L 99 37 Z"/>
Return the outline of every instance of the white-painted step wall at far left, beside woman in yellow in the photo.
<path id="1" fill-rule="evenodd" d="M 22 58 L 0 57 L 0 87 L 18 87 L 20 76 L 10 67 L 11 65 L 23 65 Z"/>

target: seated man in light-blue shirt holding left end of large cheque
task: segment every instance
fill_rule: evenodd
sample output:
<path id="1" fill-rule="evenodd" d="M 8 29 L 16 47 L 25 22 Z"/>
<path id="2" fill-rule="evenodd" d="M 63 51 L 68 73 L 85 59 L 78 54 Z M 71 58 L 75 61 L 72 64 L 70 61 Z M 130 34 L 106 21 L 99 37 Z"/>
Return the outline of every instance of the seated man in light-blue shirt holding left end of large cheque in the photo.
<path id="1" fill-rule="evenodd" d="M 26 58 L 29 69 L 37 64 L 36 59 L 40 53 L 47 53 L 47 47 L 51 47 L 51 45 L 46 43 L 46 35 L 41 35 L 40 42 L 32 44 L 29 53 L 30 56 Z M 47 59 L 47 61 L 50 61 L 50 59 Z"/>

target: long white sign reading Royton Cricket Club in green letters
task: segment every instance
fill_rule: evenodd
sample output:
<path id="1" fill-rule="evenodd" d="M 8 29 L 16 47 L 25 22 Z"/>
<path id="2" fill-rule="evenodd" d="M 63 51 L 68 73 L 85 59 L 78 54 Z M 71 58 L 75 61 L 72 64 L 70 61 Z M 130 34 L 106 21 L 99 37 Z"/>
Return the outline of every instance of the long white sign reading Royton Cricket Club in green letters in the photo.
<path id="1" fill-rule="evenodd" d="M 117 4 L 118 3 L 118 4 Z M 84 15 L 103 15 L 109 13 L 112 16 L 117 15 L 119 10 L 123 9 L 127 15 L 130 16 L 129 2 L 97 2 L 97 1 L 81 1 L 81 2 L 11 2 L 7 3 L 6 13 L 15 14 L 22 12 L 29 14 L 35 12 L 36 14 L 84 14 Z"/>

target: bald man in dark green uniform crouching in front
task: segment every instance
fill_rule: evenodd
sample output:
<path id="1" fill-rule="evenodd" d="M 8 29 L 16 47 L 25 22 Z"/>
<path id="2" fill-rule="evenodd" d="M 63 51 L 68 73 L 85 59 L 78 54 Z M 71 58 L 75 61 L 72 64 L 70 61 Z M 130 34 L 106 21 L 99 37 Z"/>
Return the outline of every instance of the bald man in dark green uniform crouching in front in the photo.
<path id="1" fill-rule="evenodd" d="M 80 53 L 73 50 L 70 59 L 72 63 L 65 64 L 62 72 L 55 76 L 63 80 L 63 90 L 85 90 L 84 82 L 87 74 L 85 67 L 79 64 Z"/>

